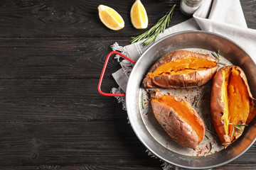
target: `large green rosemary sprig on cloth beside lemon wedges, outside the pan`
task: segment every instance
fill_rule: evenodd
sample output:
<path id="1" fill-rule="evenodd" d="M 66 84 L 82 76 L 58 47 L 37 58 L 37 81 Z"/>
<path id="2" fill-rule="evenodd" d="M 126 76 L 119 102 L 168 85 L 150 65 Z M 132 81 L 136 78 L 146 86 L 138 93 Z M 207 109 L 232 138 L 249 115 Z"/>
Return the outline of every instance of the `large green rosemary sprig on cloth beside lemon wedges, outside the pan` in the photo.
<path id="1" fill-rule="evenodd" d="M 144 45 L 149 45 L 151 42 L 154 42 L 157 35 L 159 35 L 159 33 L 164 33 L 166 27 L 169 26 L 171 17 L 174 14 L 175 6 L 176 4 L 174 4 L 174 6 L 172 6 L 171 9 L 161 19 L 159 19 L 154 26 L 152 26 L 149 30 L 146 30 L 146 32 L 142 33 L 141 35 L 138 35 L 136 38 L 133 38 L 130 42 L 138 42 L 139 40 L 144 40 L 144 38 L 148 38 L 143 42 Z"/>

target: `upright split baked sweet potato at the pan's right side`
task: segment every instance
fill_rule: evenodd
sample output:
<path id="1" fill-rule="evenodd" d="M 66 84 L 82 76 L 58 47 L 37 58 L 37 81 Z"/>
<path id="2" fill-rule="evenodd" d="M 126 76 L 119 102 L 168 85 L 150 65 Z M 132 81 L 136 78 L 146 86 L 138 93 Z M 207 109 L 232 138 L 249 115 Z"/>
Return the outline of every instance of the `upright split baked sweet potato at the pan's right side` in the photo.
<path id="1" fill-rule="evenodd" d="M 245 73 L 240 67 L 223 67 L 215 74 L 210 112 L 215 131 L 224 147 L 237 140 L 245 125 L 255 117 L 252 94 Z M 235 128 L 237 125 L 242 130 Z"/>

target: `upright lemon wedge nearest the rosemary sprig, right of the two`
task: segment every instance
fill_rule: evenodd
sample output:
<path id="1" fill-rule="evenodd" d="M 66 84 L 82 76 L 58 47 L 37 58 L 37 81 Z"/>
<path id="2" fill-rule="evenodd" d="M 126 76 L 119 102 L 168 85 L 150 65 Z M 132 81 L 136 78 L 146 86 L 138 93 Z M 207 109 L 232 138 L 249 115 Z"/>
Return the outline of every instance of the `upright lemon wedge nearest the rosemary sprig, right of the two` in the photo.
<path id="1" fill-rule="evenodd" d="M 131 20 L 134 28 L 144 29 L 147 28 L 149 19 L 146 15 L 146 9 L 144 8 L 140 0 L 136 0 L 131 8 Z"/>

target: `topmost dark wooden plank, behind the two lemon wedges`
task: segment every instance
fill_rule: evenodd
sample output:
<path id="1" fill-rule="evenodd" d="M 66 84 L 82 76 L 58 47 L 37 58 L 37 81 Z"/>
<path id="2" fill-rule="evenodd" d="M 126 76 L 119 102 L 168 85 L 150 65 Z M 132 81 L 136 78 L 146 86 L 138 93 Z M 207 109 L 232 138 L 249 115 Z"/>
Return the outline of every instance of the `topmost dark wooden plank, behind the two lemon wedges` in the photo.
<path id="1" fill-rule="evenodd" d="M 149 26 L 164 16 L 173 4 L 149 0 L 144 3 L 149 16 Z M 144 30 L 137 30 L 130 21 L 133 1 L 36 1 L 3 0 L 0 5 L 0 37 L 130 37 Z M 119 31 L 106 28 L 100 21 L 97 6 L 105 4 L 117 10 L 124 18 L 125 27 Z M 181 15 L 178 7 L 171 26 L 188 17 Z"/>

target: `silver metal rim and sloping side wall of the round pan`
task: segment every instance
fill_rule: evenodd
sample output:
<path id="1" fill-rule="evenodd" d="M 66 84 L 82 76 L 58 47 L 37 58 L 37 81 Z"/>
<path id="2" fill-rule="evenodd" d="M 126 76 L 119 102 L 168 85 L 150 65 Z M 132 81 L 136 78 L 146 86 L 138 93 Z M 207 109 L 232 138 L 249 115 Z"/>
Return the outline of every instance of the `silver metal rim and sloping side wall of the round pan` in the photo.
<path id="1" fill-rule="evenodd" d="M 163 130 L 159 128 L 154 117 L 150 116 L 150 104 L 144 106 L 144 99 L 142 96 L 145 93 L 145 89 L 142 88 L 142 80 L 146 73 L 150 67 L 167 52 L 180 49 L 196 50 L 197 52 L 217 52 L 220 50 L 220 54 L 225 63 L 234 64 L 243 69 L 247 76 L 252 96 L 256 96 L 256 89 L 252 88 L 256 86 L 256 65 L 239 45 L 236 45 L 232 40 L 228 40 L 228 38 L 216 35 L 215 33 L 203 31 L 175 33 L 162 38 L 151 45 L 134 65 L 129 76 L 126 92 L 129 122 L 137 137 L 146 148 L 155 154 L 156 157 L 159 157 L 165 162 L 186 169 L 211 169 L 216 166 L 227 164 L 243 154 L 255 142 L 255 119 L 252 120 L 247 128 L 245 128 L 242 136 L 229 147 L 223 149 L 216 145 L 215 149 L 217 149 L 215 152 L 203 156 L 203 154 L 186 154 L 186 149 L 183 150 L 181 147 L 175 145 L 174 142 L 171 142 L 171 139 L 169 139 L 168 136 L 166 137 Z M 200 87 L 199 91 L 207 90 L 207 86 L 210 85 L 202 87 L 205 89 L 200 89 Z M 169 90 L 167 89 L 166 91 Z M 178 93 L 178 95 L 181 96 L 182 93 Z M 208 99 L 209 98 L 206 97 L 206 100 Z M 210 101 L 206 102 L 209 103 Z M 203 105 L 202 109 L 204 109 L 203 111 L 210 110 L 207 104 Z M 216 141 L 216 143 L 218 143 L 218 141 Z M 191 151 L 191 153 L 192 152 L 193 151 Z"/>

